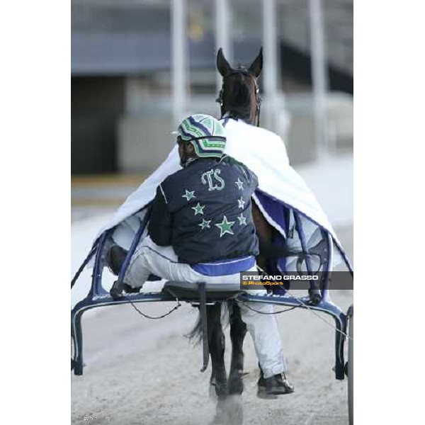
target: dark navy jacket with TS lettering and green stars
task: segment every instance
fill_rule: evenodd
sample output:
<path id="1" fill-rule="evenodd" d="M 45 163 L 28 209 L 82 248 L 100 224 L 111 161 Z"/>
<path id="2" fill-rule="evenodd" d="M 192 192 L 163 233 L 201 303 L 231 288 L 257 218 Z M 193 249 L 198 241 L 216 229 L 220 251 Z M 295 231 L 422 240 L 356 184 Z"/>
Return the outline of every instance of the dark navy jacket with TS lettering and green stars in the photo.
<path id="1" fill-rule="evenodd" d="M 258 255 L 251 215 L 256 175 L 232 157 L 199 158 L 157 188 L 149 235 L 173 246 L 179 262 L 206 263 Z"/>

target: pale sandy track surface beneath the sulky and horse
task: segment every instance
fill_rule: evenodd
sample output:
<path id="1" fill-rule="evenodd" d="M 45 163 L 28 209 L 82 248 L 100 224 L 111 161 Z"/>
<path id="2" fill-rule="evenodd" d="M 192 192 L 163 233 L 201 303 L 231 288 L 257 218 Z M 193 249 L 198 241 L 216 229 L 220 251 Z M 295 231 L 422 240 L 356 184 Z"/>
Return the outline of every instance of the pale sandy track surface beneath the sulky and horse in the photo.
<path id="1" fill-rule="evenodd" d="M 351 259 L 352 231 L 338 232 Z M 353 302 L 352 291 L 333 290 L 331 297 L 343 310 Z M 162 314 L 172 306 L 155 303 L 141 309 Z M 215 414 L 215 401 L 208 397 L 210 366 L 199 372 L 200 347 L 183 337 L 196 315 L 188 305 L 160 320 L 140 317 L 130 305 L 86 313 L 86 368 L 83 376 L 72 375 L 72 424 L 209 424 Z M 331 317 L 322 317 L 331 323 Z M 277 319 L 295 392 L 273 400 L 256 397 L 257 360 L 246 336 L 244 425 L 348 424 L 347 382 L 335 380 L 332 371 L 334 331 L 307 310 Z M 228 335 L 226 342 L 230 348 Z M 229 365 L 229 349 L 226 358 Z"/>

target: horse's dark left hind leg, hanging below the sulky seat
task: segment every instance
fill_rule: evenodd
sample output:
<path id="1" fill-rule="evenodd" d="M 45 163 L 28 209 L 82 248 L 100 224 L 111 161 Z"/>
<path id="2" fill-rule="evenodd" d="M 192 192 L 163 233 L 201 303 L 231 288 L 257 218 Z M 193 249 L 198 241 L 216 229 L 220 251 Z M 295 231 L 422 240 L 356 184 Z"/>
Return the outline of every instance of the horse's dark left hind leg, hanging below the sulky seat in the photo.
<path id="1" fill-rule="evenodd" d="M 228 395 L 225 368 L 225 334 L 221 324 L 221 304 L 207 306 L 208 346 L 210 348 L 212 375 L 215 380 L 215 393 L 218 399 Z"/>

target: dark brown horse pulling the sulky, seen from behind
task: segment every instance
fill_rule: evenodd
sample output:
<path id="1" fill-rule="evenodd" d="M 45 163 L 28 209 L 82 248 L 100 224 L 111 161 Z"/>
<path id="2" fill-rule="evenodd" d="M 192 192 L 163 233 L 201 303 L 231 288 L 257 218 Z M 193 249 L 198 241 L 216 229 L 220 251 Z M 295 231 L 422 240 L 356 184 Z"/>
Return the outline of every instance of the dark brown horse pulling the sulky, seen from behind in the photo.
<path id="1" fill-rule="evenodd" d="M 262 49 L 249 67 L 239 65 L 232 68 L 227 62 L 222 49 L 217 52 L 217 70 L 222 76 L 222 89 L 217 98 L 220 103 L 221 118 L 229 117 L 244 120 L 251 125 L 259 126 L 261 98 L 259 96 L 258 79 L 263 68 Z M 294 255 L 283 246 L 273 244 L 278 231 L 272 227 L 261 210 L 252 201 L 252 216 L 259 239 L 259 256 L 256 262 L 266 273 L 272 274 L 273 261 L 283 256 Z M 299 254 L 299 253 L 297 253 Z M 276 265 L 276 264 L 275 264 Z M 243 343 L 246 335 L 246 324 L 242 321 L 237 302 L 227 301 L 229 310 L 230 339 L 232 341 L 232 360 L 229 377 L 227 378 L 224 354 L 225 335 L 221 323 L 222 303 L 207 307 L 208 347 L 212 364 L 210 385 L 215 387 L 215 394 L 220 402 L 232 395 L 242 395 L 244 370 Z M 200 322 L 189 334 L 191 337 L 200 336 Z M 261 388 L 264 386 L 263 373 L 260 367 L 259 397 L 266 397 Z"/>

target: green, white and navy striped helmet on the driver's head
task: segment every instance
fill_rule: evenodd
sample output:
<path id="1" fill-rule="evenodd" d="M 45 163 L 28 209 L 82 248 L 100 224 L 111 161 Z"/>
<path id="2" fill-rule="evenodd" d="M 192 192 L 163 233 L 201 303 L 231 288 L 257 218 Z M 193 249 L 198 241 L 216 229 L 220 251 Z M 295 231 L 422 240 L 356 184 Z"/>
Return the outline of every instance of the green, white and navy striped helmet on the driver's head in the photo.
<path id="1" fill-rule="evenodd" d="M 182 142 L 189 142 L 200 158 L 220 158 L 226 147 L 225 129 L 210 115 L 196 114 L 185 118 L 177 131 Z"/>

